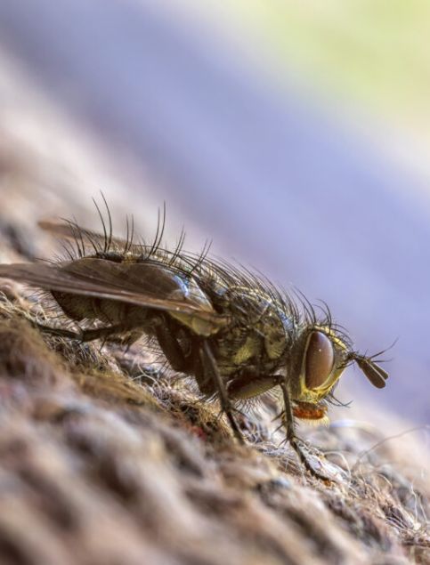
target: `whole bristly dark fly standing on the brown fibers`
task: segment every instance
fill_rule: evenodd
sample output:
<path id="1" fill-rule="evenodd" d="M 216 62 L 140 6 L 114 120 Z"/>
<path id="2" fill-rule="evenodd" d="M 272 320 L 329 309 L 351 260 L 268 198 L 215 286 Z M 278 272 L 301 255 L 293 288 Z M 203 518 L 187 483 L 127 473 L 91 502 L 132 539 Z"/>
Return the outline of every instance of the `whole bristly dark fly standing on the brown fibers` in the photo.
<path id="1" fill-rule="evenodd" d="M 69 239 L 64 260 L 0 265 L 0 277 L 48 291 L 81 330 L 39 327 L 83 342 L 155 339 L 172 369 L 195 379 L 202 398 L 219 400 L 240 442 L 240 402 L 279 387 L 287 440 L 305 468 L 322 477 L 296 436 L 295 417 L 322 421 L 334 386 L 353 362 L 370 383 L 385 387 L 388 375 L 377 356 L 355 351 L 329 309 L 318 316 L 303 296 L 293 299 L 260 274 L 207 251 L 185 252 L 183 234 L 173 250 L 163 246 L 165 210 L 154 241 L 145 244 L 134 243 L 128 221 L 126 239 L 114 238 L 106 208 L 107 222 L 97 206 L 102 234 L 76 222 L 41 222 Z"/>

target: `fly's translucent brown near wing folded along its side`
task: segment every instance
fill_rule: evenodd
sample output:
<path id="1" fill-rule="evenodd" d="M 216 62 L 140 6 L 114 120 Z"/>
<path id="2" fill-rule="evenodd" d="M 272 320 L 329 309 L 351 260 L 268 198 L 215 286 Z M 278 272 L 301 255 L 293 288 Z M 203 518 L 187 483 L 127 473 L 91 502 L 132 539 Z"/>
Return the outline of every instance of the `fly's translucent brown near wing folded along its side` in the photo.
<path id="1" fill-rule="evenodd" d="M 177 318 L 198 319 L 207 325 L 207 335 L 229 323 L 229 319 L 216 314 L 203 294 L 199 295 L 201 291 L 190 290 L 186 281 L 163 265 L 93 258 L 56 264 L 13 263 L 0 265 L 0 277 L 46 290 L 166 311 Z"/>

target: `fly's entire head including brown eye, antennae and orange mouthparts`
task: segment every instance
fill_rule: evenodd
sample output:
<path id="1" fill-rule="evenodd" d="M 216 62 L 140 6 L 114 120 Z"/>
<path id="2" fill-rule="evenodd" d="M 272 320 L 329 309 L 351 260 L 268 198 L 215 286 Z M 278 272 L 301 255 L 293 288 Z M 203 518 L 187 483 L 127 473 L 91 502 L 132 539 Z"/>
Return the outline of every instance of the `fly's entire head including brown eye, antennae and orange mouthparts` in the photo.
<path id="1" fill-rule="evenodd" d="M 319 404 L 320 400 L 333 391 L 345 368 L 352 363 L 360 367 L 374 386 L 385 387 L 388 374 L 376 360 L 380 353 L 369 357 L 353 351 L 348 339 L 333 327 L 314 324 L 304 328 L 292 349 L 288 382 L 298 417 L 323 418 L 325 407 Z M 307 416 L 300 416 L 301 410 Z"/>

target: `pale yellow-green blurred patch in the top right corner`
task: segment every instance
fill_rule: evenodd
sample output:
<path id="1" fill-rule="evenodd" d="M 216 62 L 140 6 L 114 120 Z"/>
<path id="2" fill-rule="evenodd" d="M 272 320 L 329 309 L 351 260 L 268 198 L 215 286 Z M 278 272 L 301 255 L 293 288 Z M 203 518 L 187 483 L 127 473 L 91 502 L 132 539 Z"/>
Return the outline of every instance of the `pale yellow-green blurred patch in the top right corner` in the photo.
<path id="1" fill-rule="evenodd" d="M 430 125 L 429 0 L 232 0 L 291 69 L 325 91 Z M 388 116 L 387 116 L 388 117 Z"/>

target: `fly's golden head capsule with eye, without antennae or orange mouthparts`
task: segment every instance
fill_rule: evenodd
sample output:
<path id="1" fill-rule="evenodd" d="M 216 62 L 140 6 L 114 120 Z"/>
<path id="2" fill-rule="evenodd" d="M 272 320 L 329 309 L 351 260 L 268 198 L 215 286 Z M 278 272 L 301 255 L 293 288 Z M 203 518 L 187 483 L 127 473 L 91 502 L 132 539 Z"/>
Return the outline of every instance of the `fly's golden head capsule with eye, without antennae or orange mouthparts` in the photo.
<path id="1" fill-rule="evenodd" d="M 345 369 L 347 354 L 347 344 L 329 326 L 297 332 L 287 359 L 293 399 L 318 402 L 326 397 Z"/>

